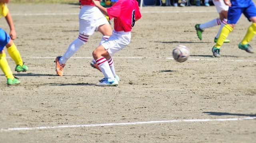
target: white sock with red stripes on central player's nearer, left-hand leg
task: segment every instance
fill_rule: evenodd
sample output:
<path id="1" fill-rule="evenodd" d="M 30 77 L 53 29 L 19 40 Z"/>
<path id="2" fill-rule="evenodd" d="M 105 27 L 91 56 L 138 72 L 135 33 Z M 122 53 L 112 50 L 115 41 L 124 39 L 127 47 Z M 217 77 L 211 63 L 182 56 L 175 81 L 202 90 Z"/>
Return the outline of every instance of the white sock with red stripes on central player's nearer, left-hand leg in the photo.
<path id="1" fill-rule="evenodd" d="M 100 68 L 100 71 L 104 74 L 106 78 L 110 78 L 111 80 L 114 80 L 115 77 L 112 74 L 112 71 L 108 65 L 108 61 L 106 60 L 105 57 L 101 57 L 96 60 L 96 63 L 98 67 Z"/>

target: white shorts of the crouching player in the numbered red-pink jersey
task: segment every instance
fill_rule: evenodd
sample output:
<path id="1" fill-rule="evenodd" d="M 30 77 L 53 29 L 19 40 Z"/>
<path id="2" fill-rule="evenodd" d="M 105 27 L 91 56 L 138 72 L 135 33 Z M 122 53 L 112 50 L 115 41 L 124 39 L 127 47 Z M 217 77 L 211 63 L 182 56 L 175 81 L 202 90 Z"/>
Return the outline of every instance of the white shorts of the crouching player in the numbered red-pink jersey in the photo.
<path id="1" fill-rule="evenodd" d="M 102 43 L 105 49 L 108 49 L 108 53 L 113 55 L 117 51 L 120 51 L 126 47 L 131 41 L 131 32 L 115 31 L 113 30 L 112 35 L 107 41 Z"/>

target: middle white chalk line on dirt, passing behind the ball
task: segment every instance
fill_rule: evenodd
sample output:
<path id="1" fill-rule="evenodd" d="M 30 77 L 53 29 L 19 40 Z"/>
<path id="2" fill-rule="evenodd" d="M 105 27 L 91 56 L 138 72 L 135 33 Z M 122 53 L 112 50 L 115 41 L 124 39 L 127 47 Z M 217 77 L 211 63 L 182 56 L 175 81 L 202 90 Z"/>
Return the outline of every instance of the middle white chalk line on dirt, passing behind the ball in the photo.
<path id="1" fill-rule="evenodd" d="M 55 59 L 56 57 L 28 57 L 32 59 Z M 71 57 L 73 59 L 92 59 L 92 57 Z M 124 59 L 173 59 L 171 57 L 167 58 L 150 58 L 150 57 L 113 57 L 113 58 L 124 58 Z M 234 62 L 254 62 L 256 61 L 250 61 L 250 60 L 223 60 L 223 59 L 193 59 L 189 58 L 188 60 L 195 60 L 195 61 L 234 61 Z"/>

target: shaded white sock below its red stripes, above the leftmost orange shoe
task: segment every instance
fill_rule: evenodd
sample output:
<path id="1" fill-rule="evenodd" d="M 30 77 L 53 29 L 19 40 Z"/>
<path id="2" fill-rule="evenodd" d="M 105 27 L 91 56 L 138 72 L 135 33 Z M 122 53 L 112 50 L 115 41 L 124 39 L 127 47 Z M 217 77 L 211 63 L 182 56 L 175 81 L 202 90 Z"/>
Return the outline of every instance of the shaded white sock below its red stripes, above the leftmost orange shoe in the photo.
<path id="1" fill-rule="evenodd" d="M 66 53 L 60 58 L 60 63 L 66 64 L 68 59 L 76 53 L 76 51 L 85 43 L 81 42 L 79 39 L 75 39 L 69 46 Z"/>

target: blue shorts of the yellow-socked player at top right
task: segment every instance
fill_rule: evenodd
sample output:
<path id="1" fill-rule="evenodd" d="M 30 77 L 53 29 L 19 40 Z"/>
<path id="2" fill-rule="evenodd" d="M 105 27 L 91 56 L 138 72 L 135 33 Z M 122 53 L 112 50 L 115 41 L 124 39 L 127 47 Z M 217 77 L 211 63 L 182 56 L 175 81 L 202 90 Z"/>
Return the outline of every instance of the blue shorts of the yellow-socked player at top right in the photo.
<path id="1" fill-rule="evenodd" d="M 248 20 L 249 18 L 256 16 L 256 7 L 254 3 L 250 1 L 247 7 L 233 6 L 232 4 L 228 9 L 228 24 L 236 24 L 241 14 L 244 14 Z"/>

